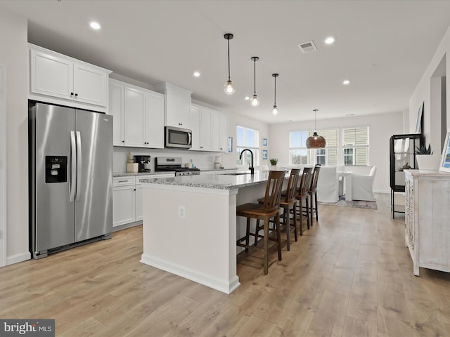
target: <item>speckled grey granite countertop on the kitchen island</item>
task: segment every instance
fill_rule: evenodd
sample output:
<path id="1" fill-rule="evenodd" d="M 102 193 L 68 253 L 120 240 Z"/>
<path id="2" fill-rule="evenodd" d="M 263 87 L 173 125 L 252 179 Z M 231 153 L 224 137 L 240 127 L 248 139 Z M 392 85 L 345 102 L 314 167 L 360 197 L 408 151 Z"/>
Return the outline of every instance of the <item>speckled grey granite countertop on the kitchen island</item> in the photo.
<path id="1" fill-rule="evenodd" d="M 181 176 L 174 178 L 140 179 L 140 183 L 175 185 L 184 187 L 215 188 L 219 190 L 233 190 L 235 188 L 258 185 L 267 182 L 269 172 L 255 171 L 252 176 L 250 172 L 237 176 L 228 174 L 207 174 L 198 176 Z M 289 173 L 286 175 L 289 178 Z"/>

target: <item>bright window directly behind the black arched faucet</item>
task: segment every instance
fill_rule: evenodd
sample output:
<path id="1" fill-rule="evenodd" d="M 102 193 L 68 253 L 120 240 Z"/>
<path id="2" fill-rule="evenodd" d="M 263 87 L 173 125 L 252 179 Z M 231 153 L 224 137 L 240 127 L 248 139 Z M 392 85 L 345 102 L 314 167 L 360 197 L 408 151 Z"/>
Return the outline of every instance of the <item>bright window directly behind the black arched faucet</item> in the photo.
<path id="1" fill-rule="evenodd" d="M 252 128 L 245 128 L 243 126 L 236 126 L 236 164 L 248 165 L 251 162 L 251 154 L 246 151 L 243 154 L 242 161 L 240 161 L 240 152 L 244 149 L 252 150 L 253 166 L 259 165 L 259 131 Z"/>

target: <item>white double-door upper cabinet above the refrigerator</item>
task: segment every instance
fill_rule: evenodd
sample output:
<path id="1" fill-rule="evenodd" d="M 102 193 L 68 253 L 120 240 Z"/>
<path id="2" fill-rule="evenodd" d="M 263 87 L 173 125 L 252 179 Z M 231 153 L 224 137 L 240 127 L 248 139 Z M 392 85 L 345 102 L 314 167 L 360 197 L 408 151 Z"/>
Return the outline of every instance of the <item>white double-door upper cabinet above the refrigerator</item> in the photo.
<path id="1" fill-rule="evenodd" d="M 106 112 L 110 70 L 29 44 L 30 98 Z"/>

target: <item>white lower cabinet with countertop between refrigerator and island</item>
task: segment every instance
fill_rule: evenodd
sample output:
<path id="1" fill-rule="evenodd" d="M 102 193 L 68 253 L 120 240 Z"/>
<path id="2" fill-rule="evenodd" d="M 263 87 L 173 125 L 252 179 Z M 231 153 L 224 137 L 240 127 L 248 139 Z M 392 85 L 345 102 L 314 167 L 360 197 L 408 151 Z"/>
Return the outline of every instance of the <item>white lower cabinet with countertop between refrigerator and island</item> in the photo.
<path id="1" fill-rule="evenodd" d="M 140 179 L 172 177 L 174 177 L 174 173 L 113 178 L 113 227 L 129 225 L 131 223 L 134 223 L 133 225 L 140 225 L 142 223 L 143 204 Z"/>

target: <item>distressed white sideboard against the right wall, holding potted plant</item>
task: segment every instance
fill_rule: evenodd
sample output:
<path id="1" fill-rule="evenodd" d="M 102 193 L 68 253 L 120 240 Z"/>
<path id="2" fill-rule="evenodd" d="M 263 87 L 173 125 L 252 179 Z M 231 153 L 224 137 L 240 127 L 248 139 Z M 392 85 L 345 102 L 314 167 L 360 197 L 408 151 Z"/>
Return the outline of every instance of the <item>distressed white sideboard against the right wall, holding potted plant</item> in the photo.
<path id="1" fill-rule="evenodd" d="M 450 272 L 450 174 L 405 170 L 405 244 L 419 267 Z"/>

